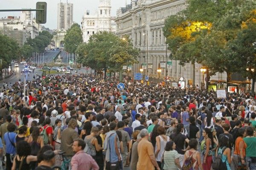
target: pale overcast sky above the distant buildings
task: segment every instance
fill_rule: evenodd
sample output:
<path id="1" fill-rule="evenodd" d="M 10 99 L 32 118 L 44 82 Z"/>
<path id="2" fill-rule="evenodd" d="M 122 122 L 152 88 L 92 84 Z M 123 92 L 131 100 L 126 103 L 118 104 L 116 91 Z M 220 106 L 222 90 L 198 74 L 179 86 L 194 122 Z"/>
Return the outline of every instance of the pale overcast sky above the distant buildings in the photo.
<path id="1" fill-rule="evenodd" d="M 39 0 L 0 0 L 0 9 L 20 9 L 20 8 L 35 8 L 36 2 Z M 60 0 L 40 0 L 47 2 L 47 23 L 45 27 L 50 29 L 57 28 L 57 8 Z M 130 0 L 111 0 L 111 15 L 116 16 L 116 10 L 119 7 L 124 7 L 125 2 Z M 67 0 L 61 0 L 66 3 Z M 90 13 L 94 12 L 99 6 L 99 0 L 68 0 L 73 3 L 73 20 L 81 25 L 82 16 L 84 11 L 90 10 Z M 21 12 L 0 12 L 0 17 L 7 16 L 20 16 Z M 35 16 L 35 12 L 34 15 Z"/>

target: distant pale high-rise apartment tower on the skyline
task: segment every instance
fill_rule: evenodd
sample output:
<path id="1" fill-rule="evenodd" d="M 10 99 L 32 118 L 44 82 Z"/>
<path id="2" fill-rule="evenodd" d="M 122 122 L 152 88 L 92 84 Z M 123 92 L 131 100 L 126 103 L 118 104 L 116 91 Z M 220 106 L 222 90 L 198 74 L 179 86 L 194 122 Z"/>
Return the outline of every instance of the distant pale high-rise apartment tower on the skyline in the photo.
<path id="1" fill-rule="evenodd" d="M 58 3 L 57 29 L 69 29 L 73 24 L 73 3 Z"/>

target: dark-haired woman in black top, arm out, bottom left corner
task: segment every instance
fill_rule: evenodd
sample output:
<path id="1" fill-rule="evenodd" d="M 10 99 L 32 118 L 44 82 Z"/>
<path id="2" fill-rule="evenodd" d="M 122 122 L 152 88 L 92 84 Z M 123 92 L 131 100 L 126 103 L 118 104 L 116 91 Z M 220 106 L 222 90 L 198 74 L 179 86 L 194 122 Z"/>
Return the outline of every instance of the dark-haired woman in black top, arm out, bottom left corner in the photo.
<path id="1" fill-rule="evenodd" d="M 31 155 L 29 143 L 26 141 L 17 142 L 17 155 L 12 164 L 12 170 L 30 170 L 30 162 L 37 161 L 37 156 Z"/>

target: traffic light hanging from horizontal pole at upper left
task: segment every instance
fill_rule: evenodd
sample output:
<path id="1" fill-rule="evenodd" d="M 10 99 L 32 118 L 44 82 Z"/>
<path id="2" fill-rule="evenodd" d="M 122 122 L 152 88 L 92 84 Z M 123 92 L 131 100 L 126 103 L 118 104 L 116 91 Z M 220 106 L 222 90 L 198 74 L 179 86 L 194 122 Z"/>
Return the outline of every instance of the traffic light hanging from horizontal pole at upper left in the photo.
<path id="1" fill-rule="evenodd" d="M 35 22 L 38 24 L 45 24 L 46 23 L 46 14 L 47 14 L 47 3 L 46 2 L 37 2 L 36 9 L 44 9 L 44 10 L 36 11 Z"/>

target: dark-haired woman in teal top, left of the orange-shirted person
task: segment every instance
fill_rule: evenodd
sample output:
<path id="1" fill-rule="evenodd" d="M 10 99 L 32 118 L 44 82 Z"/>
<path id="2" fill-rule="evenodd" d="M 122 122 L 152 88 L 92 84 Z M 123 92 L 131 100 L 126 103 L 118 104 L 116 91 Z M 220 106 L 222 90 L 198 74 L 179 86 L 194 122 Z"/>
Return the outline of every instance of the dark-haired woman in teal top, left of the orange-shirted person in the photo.
<path id="1" fill-rule="evenodd" d="M 231 150 L 229 148 L 229 139 L 227 136 L 222 136 L 219 140 L 218 155 L 221 155 L 221 170 L 231 170 Z M 225 166 L 223 166 L 225 165 Z"/>

